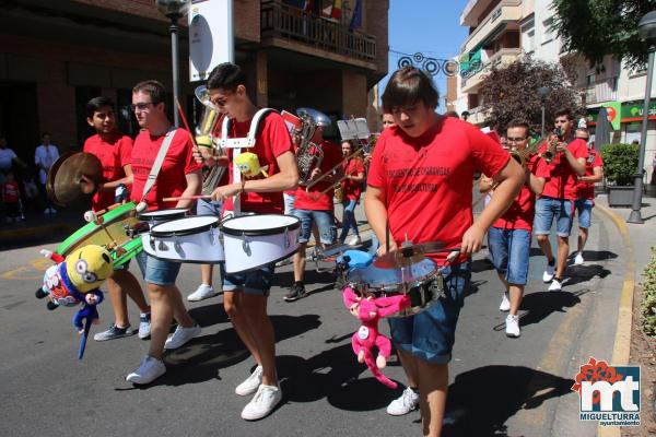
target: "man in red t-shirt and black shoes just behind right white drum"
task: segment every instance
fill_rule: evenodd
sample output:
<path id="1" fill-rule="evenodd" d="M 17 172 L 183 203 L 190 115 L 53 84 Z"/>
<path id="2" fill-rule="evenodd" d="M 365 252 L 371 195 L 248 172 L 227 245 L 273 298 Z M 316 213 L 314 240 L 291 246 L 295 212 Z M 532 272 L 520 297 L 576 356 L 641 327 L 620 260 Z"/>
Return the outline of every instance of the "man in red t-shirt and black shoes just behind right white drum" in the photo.
<path id="1" fill-rule="evenodd" d="M 342 161 L 339 145 L 324 140 L 324 127 L 317 126 L 313 138 L 311 139 L 318 149 L 323 151 L 324 158 L 318 167 L 313 168 L 308 185 L 313 180 L 324 177 Z M 293 214 L 301 220 L 301 234 L 298 235 L 298 250 L 294 253 L 294 283 L 289 293 L 284 295 L 285 302 L 294 302 L 306 296 L 305 284 L 305 250 L 307 241 L 312 234 L 313 226 L 316 225 L 319 234 L 317 246 L 326 248 L 335 243 L 337 228 L 335 226 L 335 181 L 339 180 L 341 169 L 336 175 L 324 177 L 308 189 L 305 185 L 300 185 L 294 196 Z M 326 192 L 323 192 L 326 191 Z"/>

